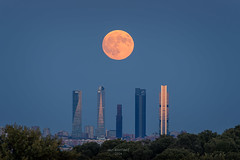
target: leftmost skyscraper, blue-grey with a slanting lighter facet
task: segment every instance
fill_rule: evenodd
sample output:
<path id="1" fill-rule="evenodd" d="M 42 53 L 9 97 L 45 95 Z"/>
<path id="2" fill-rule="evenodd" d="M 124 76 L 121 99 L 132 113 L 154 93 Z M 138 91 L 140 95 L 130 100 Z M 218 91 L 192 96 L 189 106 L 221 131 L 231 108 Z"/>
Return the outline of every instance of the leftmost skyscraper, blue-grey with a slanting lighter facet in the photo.
<path id="1" fill-rule="evenodd" d="M 82 91 L 73 91 L 72 137 L 82 136 Z"/>

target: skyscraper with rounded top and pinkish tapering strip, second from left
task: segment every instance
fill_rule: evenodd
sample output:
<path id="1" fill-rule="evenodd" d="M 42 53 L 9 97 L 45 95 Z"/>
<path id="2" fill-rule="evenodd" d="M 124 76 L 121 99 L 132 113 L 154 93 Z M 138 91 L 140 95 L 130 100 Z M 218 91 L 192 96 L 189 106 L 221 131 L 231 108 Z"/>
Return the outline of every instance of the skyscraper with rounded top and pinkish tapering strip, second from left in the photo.
<path id="1" fill-rule="evenodd" d="M 100 86 L 97 91 L 97 138 L 105 138 L 105 89 Z"/>

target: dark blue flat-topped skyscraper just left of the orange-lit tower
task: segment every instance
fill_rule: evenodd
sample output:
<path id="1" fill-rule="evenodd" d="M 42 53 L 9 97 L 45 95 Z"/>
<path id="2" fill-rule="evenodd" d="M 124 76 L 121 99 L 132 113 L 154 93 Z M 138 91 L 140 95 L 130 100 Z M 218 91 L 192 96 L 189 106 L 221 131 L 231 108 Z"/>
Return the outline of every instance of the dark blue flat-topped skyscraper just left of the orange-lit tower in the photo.
<path id="1" fill-rule="evenodd" d="M 146 90 L 135 89 L 135 138 L 146 136 Z"/>

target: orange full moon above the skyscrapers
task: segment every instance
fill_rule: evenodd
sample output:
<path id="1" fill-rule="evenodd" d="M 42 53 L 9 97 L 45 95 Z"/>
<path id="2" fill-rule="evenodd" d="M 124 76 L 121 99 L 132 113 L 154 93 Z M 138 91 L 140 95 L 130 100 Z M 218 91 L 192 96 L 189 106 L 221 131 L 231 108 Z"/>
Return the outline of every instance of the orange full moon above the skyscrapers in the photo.
<path id="1" fill-rule="evenodd" d="M 130 56 L 134 48 L 134 42 L 127 32 L 114 30 L 104 37 L 102 48 L 109 58 L 122 60 Z"/>

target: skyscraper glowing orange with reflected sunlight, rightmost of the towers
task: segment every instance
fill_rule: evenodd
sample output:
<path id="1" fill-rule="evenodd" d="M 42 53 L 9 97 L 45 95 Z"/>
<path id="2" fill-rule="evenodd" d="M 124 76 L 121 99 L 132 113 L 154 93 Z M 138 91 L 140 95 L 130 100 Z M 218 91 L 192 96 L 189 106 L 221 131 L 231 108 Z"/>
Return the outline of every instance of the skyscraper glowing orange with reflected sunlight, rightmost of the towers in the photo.
<path id="1" fill-rule="evenodd" d="M 167 85 L 161 85 L 161 92 L 159 94 L 159 134 L 169 134 L 169 95 L 167 92 Z"/>

